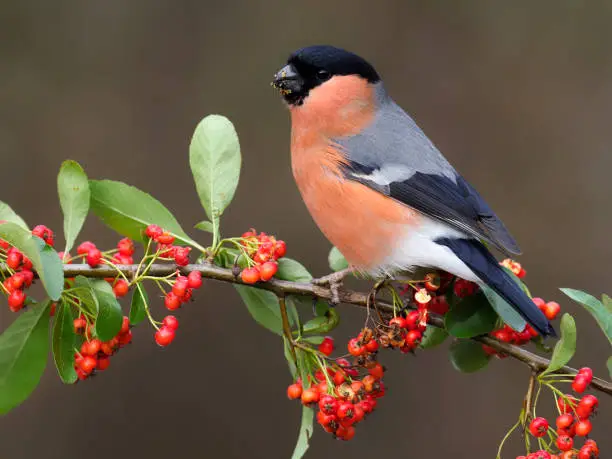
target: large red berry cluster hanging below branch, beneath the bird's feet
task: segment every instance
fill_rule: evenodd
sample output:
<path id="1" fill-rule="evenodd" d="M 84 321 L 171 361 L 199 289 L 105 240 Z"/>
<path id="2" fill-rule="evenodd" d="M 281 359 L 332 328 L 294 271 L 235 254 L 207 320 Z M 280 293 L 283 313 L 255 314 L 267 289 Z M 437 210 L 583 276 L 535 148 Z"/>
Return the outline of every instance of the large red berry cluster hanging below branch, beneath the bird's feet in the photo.
<path id="1" fill-rule="evenodd" d="M 349 341 L 348 348 L 353 350 L 353 365 L 344 358 L 331 360 L 330 366 L 315 372 L 316 384 L 309 377 L 308 386 L 304 387 L 298 379 L 287 388 L 290 399 L 300 399 L 306 406 L 317 405 L 317 422 L 340 440 L 353 438 L 355 425 L 372 413 L 378 399 L 385 395 L 382 381 L 385 370 L 376 360 L 378 342 L 372 330 L 364 329 Z M 357 348 L 359 352 L 354 352 Z M 319 352 L 324 356 L 329 356 L 333 349 L 330 337 L 319 345 Z"/>

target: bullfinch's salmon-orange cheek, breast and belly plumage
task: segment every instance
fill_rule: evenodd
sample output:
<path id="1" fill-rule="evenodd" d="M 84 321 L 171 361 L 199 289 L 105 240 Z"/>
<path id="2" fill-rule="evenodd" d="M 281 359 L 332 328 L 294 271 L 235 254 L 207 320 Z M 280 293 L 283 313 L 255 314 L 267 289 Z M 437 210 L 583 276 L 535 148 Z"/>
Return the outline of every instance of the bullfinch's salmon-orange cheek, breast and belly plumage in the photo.
<path id="1" fill-rule="evenodd" d="M 335 77 L 292 115 L 292 169 L 302 198 L 323 234 L 347 261 L 378 267 L 418 216 L 365 185 L 346 180 L 343 152 L 332 138 L 359 132 L 374 116 L 371 87 L 356 77 Z"/>

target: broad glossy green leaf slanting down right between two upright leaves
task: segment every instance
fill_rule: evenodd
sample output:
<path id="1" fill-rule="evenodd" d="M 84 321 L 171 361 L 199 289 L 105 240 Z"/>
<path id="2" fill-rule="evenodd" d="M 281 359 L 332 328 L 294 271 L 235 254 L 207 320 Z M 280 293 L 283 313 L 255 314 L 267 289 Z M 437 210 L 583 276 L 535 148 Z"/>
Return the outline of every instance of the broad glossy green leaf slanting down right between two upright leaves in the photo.
<path id="1" fill-rule="evenodd" d="M 91 210 L 107 226 L 135 241 L 144 241 L 144 230 L 159 225 L 177 241 L 204 251 L 181 228 L 174 216 L 153 196 L 122 182 L 90 180 Z"/>

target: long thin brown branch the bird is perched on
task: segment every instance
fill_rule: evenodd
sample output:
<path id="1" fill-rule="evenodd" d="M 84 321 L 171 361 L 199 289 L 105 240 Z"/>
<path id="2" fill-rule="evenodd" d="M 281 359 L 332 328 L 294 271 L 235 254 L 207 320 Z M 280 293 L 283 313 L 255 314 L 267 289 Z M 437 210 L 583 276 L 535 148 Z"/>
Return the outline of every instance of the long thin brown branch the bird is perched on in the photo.
<path id="1" fill-rule="evenodd" d="M 132 278 L 136 273 L 137 265 L 116 266 L 128 278 Z M 170 275 L 176 272 L 177 270 L 185 275 L 189 274 L 191 271 L 200 271 L 200 273 L 202 273 L 202 277 L 222 282 L 244 284 L 244 282 L 240 280 L 240 277 L 234 276 L 230 269 L 220 268 L 212 264 L 187 265 L 185 267 L 177 267 L 173 264 L 153 264 L 147 270 L 147 274 L 155 277 L 162 277 Z M 4 274 L 9 274 L 6 266 L 2 264 L 0 264 L 0 272 Z M 117 271 L 112 266 L 100 266 L 97 268 L 91 268 L 89 265 L 86 264 L 64 265 L 65 277 L 75 277 L 79 275 L 85 277 L 99 278 L 115 277 L 117 275 Z M 315 296 L 324 300 L 331 300 L 333 297 L 331 289 L 305 282 L 291 282 L 279 279 L 271 279 L 268 282 L 257 283 L 254 285 L 244 285 L 269 290 L 271 292 L 276 293 L 277 296 L 281 298 L 288 294 Z M 363 308 L 367 307 L 368 305 L 369 293 L 356 292 L 354 290 L 342 287 L 338 289 L 338 296 L 342 303 L 352 304 L 354 306 Z M 391 304 L 383 301 L 377 301 L 376 304 L 378 309 L 384 312 L 393 313 L 393 306 Z M 442 317 L 436 314 L 429 314 L 428 323 L 430 325 L 433 325 L 434 327 L 444 328 L 444 320 L 442 319 Z M 543 371 L 550 364 L 550 360 L 545 357 L 529 352 L 519 346 L 498 341 L 490 336 L 478 336 L 472 339 L 482 344 L 486 344 L 487 346 L 495 349 L 498 352 L 507 354 L 520 362 L 523 362 L 524 364 L 529 366 L 532 371 Z M 564 366 L 563 368 L 560 368 L 554 373 L 572 376 L 578 373 L 578 371 L 575 368 Z M 591 385 L 600 392 L 612 395 L 612 383 L 608 381 L 593 377 Z"/>

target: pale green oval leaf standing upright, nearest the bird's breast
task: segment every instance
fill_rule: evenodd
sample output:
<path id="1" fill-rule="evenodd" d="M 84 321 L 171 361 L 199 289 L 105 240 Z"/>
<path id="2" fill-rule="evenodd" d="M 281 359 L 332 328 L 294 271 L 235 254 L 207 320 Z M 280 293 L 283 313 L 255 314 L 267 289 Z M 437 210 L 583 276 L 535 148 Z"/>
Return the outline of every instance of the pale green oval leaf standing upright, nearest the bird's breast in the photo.
<path id="1" fill-rule="evenodd" d="M 221 115 L 200 121 L 189 145 L 189 164 L 215 236 L 219 219 L 236 192 L 241 162 L 238 134 L 231 121 Z"/>

